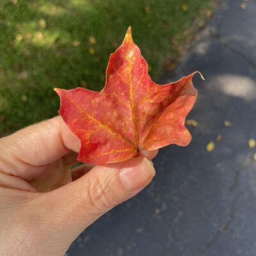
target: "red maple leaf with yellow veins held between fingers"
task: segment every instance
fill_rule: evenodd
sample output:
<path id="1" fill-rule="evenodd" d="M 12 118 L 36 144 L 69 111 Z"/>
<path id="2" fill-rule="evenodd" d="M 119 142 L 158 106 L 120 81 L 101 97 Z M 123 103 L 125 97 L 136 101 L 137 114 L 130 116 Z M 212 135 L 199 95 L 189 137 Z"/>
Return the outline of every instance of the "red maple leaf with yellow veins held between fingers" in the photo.
<path id="1" fill-rule="evenodd" d="M 61 99 L 60 115 L 81 141 L 77 160 L 114 163 L 142 149 L 188 145 L 191 135 L 184 122 L 196 100 L 195 73 L 175 83 L 154 83 L 129 28 L 109 58 L 102 91 L 54 89 Z"/>

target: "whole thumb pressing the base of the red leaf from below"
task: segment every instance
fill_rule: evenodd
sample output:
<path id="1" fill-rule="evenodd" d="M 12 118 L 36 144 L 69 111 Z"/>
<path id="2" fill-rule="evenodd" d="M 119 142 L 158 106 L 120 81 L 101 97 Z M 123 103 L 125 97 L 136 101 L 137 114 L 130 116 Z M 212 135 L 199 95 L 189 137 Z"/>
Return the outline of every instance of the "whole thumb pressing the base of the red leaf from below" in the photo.
<path id="1" fill-rule="evenodd" d="M 69 246 L 102 214 L 145 188 L 155 174 L 143 156 L 95 166 L 80 179 L 40 196 L 40 215 L 54 227 L 51 235 L 54 230 L 61 244 Z"/>

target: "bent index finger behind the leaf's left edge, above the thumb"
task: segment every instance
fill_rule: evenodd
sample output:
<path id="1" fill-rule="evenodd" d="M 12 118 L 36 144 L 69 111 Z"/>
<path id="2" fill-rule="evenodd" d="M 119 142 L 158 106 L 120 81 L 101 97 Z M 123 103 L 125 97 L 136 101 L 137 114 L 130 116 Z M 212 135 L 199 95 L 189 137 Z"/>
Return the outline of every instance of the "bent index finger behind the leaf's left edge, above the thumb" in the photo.
<path id="1" fill-rule="evenodd" d="M 0 170 L 31 180 L 70 150 L 78 152 L 78 138 L 60 116 L 31 125 L 0 140 Z"/>

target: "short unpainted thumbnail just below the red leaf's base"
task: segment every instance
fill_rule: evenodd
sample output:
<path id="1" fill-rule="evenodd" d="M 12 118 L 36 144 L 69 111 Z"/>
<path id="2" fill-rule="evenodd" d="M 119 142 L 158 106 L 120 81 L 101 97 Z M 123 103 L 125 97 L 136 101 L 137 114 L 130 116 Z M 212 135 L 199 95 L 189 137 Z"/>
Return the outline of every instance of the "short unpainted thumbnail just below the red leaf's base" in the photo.
<path id="1" fill-rule="evenodd" d="M 119 179 L 124 189 L 144 188 L 156 175 L 150 161 L 145 157 L 132 158 L 125 162 L 119 172 Z"/>

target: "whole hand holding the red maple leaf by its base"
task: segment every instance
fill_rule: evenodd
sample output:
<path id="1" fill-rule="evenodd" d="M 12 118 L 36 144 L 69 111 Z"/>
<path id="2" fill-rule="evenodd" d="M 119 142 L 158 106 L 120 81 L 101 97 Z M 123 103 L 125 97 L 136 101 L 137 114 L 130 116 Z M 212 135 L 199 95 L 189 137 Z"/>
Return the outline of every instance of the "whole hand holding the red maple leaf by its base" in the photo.
<path id="1" fill-rule="evenodd" d="M 155 175 L 148 159 L 157 150 L 123 163 L 71 170 L 78 150 L 79 140 L 60 116 L 1 138 L 2 256 L 64 255 L 84 228 Z"/>

